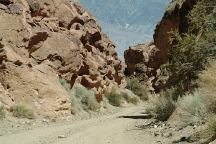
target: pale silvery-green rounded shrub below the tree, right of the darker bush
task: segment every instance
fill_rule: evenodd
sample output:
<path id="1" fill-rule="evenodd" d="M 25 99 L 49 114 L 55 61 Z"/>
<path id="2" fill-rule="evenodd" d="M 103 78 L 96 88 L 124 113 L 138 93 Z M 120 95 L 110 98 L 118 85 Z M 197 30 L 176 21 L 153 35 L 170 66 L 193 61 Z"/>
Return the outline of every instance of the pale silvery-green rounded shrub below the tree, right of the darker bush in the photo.
<path id="1" fill-rule="evenodd" d="M 183 96 L 179 99 L 177 106 L 178 112 L 185 122 L 203 122 L 208 114 L 206 101 L 199 91 Z"/>

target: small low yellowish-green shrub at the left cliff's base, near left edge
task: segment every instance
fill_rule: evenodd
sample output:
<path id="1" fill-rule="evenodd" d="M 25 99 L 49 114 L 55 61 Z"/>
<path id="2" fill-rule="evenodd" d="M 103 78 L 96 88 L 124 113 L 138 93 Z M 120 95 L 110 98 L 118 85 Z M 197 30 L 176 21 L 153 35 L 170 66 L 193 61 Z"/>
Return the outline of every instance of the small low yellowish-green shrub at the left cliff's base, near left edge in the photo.
<path id="1" fill-rule="evenodd" d="M 35 115 L 32 109 L 28 108 L 25 105 L 15 105 L 10 108 L 10 111 L 13 113 L 13 116 L 18 118 L 28 118 L 34 119 Z"/>

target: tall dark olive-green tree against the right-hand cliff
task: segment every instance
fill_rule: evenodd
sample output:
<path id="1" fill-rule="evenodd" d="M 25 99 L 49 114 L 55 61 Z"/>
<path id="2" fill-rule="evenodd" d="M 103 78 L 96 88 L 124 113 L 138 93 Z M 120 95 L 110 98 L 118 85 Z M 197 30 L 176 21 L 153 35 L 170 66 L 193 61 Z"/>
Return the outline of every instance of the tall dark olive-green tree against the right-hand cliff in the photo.
<path id="1" fill-rule="evenodd" d="M 216 2 L 200 0 L 188 15 L 189 30 L 170 32 L 171 48 L 163 71 L 170 76 L 169 85 L 180 90 L 193 87 L 210 58 L 216 57 Z"/>

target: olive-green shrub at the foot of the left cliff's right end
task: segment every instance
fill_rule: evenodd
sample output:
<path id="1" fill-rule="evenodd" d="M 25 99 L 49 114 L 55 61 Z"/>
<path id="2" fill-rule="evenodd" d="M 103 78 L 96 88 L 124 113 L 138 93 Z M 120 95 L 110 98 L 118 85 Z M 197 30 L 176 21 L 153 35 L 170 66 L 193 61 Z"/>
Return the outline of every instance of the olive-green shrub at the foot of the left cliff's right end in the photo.
<path id="1" fill-rule="evenodd" d="M 111 105 L 117 107 L 121 106 L 121 103 L 124 101 L 123 95 L 115 88 L 113 88 L 111 91 L 106 91 L 105 97 L 108 99 Z"/>

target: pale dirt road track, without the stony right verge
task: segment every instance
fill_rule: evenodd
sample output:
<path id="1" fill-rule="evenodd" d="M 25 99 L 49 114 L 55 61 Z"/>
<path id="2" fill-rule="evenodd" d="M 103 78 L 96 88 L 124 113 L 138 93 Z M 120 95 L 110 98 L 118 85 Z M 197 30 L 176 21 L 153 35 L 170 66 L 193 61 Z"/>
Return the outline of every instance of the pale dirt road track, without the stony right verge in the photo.
<path id="1" fill-rule="evenodd" d="M 0 144 L 154 144 L 155 137 L 136 128 L 144 123 L 141 106 L 67 124 L 55 124 L 0 136 Z M 123 116 L 123 117 L 122 117 Z"/>

